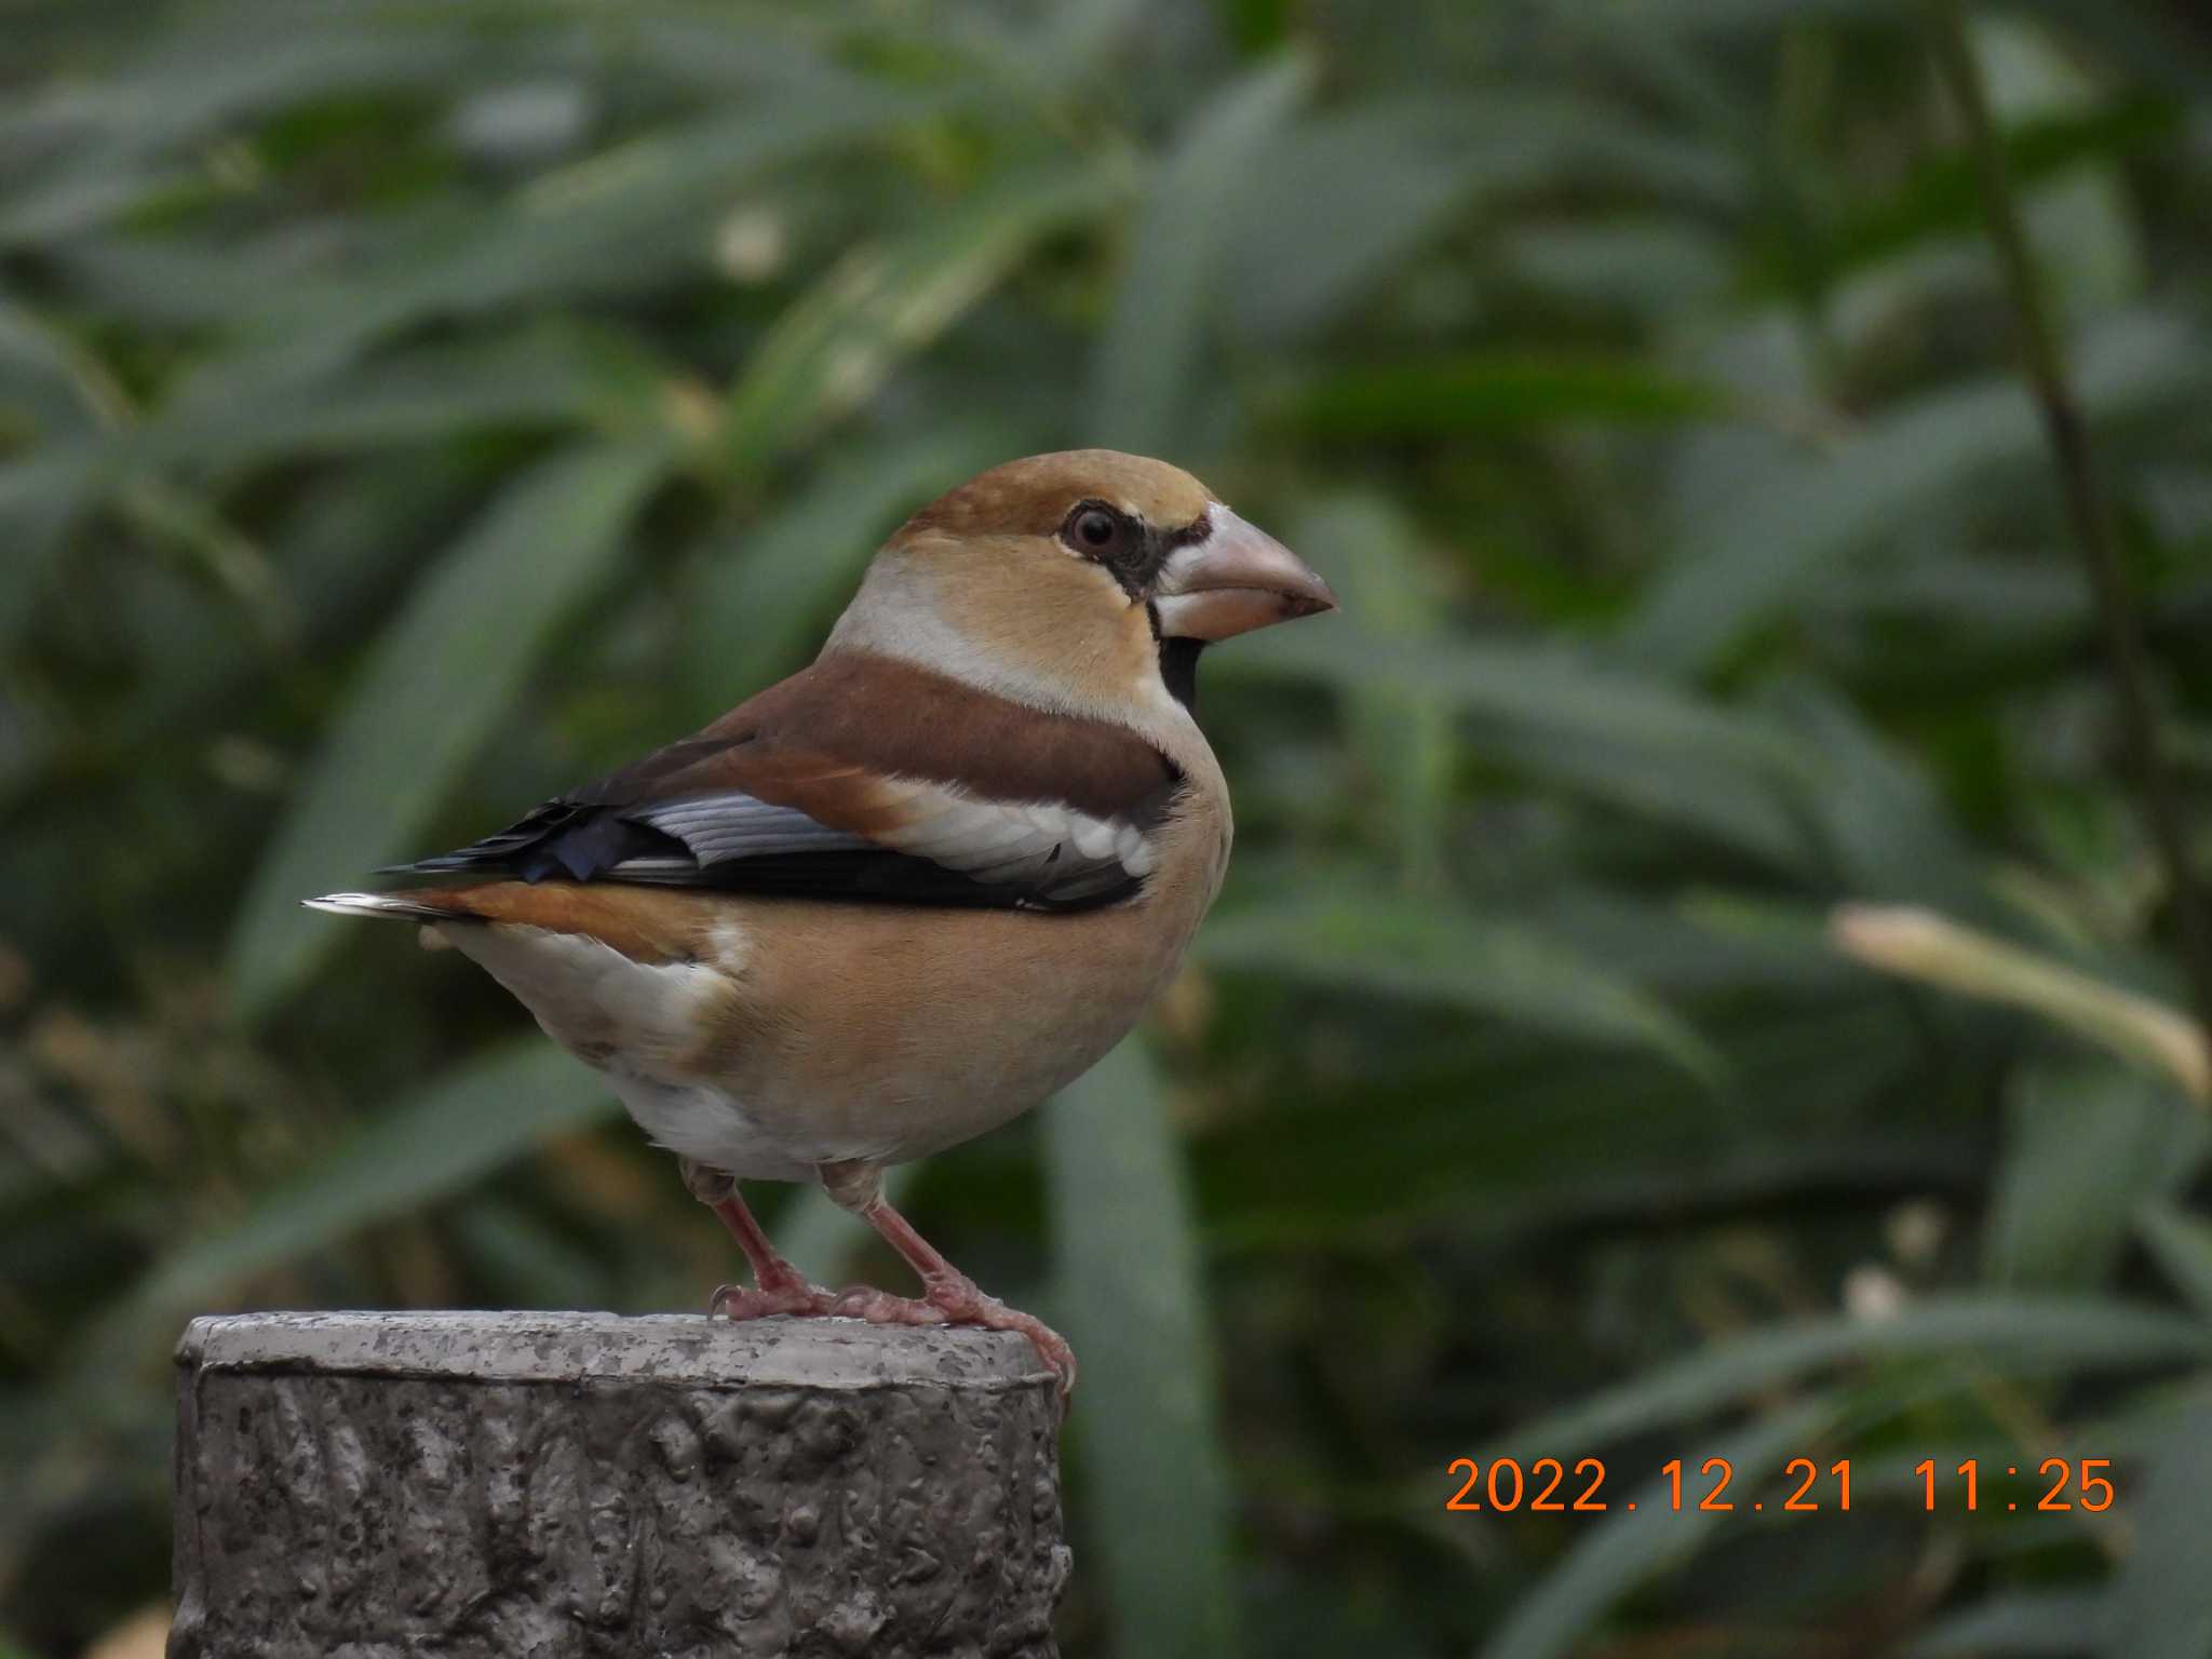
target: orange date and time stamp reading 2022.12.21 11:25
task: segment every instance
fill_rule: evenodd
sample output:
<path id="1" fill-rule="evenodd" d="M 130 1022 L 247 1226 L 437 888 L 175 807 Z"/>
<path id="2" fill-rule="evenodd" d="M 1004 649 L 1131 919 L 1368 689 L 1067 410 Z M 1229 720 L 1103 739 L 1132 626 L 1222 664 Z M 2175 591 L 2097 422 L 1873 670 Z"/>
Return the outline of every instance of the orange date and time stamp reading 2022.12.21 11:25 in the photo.
<path id="1" fill-rule="evenodd" d="M 1973 1513 L 1984 1509 L 2068 1513 L 2088 1511 L 2101 1515 L 2117 1500 L 2112 1486 L 2110 1458 L 2044 1458 L 2033 1471 L 2022 1464 L 1984 1464 L 1969 1458 L 1955 1469 L 1938 1469 L 1933 1458 L 1913 1464 L 1913 1495 L 1929 1513 L 1938 1509 Z M 1608 1489 L 1613 1469 L 1604 1458 L 1537 1458 L 1524 1464 L 1520 1458 L 1453 1458 L 1444 1473 L 1458 1480 L 1458 1489 L 1447 1493 L 1444 1509 L 1453 1513 L 1531 1513 L 1531 1515 L 1604 1515 L 1613 1509 L 1630 1511 L 1637 1498 L 1615 1498 Z M 1752 1475 L 1756 1478 L 1756 1475 Z M 1657 1502 L 1644 1493 L 1646 1506 L 1672 1513 L 1699 1511 L 1732 1513 L 1781 1511 L 1787 1515 L 1816 1515 L 1820 1511 L 1849 1513 L 1851 1509 L 1851 1460 L 1843 1458 L 1825 1469 L 1812 1458 L 1790 1458 L 1781 1469 L 1781 1484 L 1792 1486 L 1778 1502 L 1765 1498 L 1730 1495 L 1736 1482 L 1736 1467 L 1728 1458 L 1705 1458 L 1694 1469 L 1681 1458 L 1659 1464 Z M 1750 1478 L 1745 1480 L 1750 1486 Z"/>

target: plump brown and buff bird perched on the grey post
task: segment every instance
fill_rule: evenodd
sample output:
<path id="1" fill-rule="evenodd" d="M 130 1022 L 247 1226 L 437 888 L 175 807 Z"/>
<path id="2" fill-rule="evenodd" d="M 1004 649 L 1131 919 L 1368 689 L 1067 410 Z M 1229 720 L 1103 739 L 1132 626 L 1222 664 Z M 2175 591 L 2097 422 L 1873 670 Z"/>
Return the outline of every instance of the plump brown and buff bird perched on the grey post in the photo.
<path id="1" fill-rule="evenodd" d="M 1066 1405 L 1068 1343 L 929 1245 L 883 1172 L 1042 1104 L 1170 982 L 1232 836 L 1199 655 L 1334 606 L 1179 467 L 1011 460 L 891 533 L 807 668 L 378 872 L 418 885 L 303 902 L 418 922 L 606 1077 L 750 1265 L 710 1316 L 1020 1332 Z M 818 1183 L 922 1294 L 810 1283 L 741 1181 Z"/>

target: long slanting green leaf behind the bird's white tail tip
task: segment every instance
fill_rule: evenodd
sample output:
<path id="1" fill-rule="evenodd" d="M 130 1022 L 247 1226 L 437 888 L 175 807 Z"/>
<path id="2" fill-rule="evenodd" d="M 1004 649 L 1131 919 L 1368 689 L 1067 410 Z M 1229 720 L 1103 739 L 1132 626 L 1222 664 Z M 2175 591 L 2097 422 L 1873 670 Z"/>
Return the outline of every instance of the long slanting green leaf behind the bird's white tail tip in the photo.
<path id="1" fill-rule="evenodd" d="M 661 442 L 553 456 L 425 573 L 369 653 L 239 907 L 226 967 L 248 1018 L 338 945 L 330 918 L 301 900 L 414 852 L 409 838 L 507 714 L 553 630 L 613 568 L 670 458 Z"/>

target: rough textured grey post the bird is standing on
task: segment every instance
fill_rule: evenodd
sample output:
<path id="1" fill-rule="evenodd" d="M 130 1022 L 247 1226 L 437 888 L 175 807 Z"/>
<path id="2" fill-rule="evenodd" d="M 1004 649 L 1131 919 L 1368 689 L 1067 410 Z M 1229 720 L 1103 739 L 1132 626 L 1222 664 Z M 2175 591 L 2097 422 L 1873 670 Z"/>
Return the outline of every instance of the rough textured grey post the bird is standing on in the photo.
<path id="1" fill-rule="evenodd" d="M 1053 1655 L 1055 1420 L 998 1332 L 199 1318 L 168 1652 Z"/>

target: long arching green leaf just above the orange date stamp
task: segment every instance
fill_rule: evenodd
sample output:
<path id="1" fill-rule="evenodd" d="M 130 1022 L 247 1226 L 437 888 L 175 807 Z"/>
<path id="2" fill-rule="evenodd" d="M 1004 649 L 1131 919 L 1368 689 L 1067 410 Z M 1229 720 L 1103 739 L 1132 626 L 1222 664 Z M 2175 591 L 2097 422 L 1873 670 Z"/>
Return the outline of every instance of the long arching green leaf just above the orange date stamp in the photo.
<path id="1" fill-rule="evenodd" d="M 1889 1318 L 1812 1318 L 1717 1343 L 1582 1405 L 1515 1427 L 1502 1455 L 1601 1447 L 1721 1411 L 1759 1389 L 1843 1363 L 1962 1356 L 2017 1376 L 2205 1365 L 2212 1332 L 2119 1301 L 2077 1296 L 1927 1296 Z"/>

